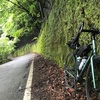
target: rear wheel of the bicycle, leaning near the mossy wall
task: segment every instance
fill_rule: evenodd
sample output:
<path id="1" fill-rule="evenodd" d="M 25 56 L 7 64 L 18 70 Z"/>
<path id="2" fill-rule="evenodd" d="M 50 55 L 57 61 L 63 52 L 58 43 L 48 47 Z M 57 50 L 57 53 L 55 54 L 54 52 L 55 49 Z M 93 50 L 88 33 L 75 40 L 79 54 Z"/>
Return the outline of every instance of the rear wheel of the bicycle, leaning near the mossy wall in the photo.
<path id="1" fill-rule="evenodd" d="M 75 86 L 75 57 L 73 53 L 69 53 L 66 57 L 64 66 L 66 88 L 74 88 Z"/>

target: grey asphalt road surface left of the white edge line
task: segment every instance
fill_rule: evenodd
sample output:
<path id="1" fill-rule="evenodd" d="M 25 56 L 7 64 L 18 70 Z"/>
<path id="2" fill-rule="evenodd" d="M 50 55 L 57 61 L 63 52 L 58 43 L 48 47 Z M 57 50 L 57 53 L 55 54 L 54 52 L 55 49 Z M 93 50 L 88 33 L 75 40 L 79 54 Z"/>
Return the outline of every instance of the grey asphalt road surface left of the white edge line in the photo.
<path id="1" fill-rule="evenodd" d="M 23 100 L 29 65 L 33 59 L 34 54 L 28 54 L 0 65 L 0 100 Z"/>

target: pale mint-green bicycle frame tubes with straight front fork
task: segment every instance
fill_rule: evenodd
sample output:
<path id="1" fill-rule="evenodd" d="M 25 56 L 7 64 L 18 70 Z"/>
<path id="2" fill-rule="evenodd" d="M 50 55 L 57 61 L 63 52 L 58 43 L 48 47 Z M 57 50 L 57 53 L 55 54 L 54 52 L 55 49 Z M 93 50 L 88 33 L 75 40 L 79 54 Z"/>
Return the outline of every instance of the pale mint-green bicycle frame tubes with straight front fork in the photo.
<path id="1" fill-rule="evenodd" d="M 95 43 L 95 35 L 92 34 L 91 36 L 91 41 L 92 41 L 92 51 L 90 52 L 87 60 L 86 60 L 86 63 L 83 65 L 80 73 L 78 70 L 76 70 L 76 80 L 79 80 L 81 78 L 81 76 L 84 74 L 84 71 L 86 69 L 86 67 L 91 66 L 91 72 L 92 72 L 92 80 L 93 80 L 93 86 L 94 86 L 94 89 L 96 89 L 96 81 L 95 81 L 95 73 L 94 73 L 94 64 L 93 64 L 93 59 L 96 55 L 96 43 Z M 76 61 L 77 61 L 77 55 L 76 55 Z M 89 63 L 90 62 L 90 63 Z M 77 67 L 77 66 L 76 66 Z"/>

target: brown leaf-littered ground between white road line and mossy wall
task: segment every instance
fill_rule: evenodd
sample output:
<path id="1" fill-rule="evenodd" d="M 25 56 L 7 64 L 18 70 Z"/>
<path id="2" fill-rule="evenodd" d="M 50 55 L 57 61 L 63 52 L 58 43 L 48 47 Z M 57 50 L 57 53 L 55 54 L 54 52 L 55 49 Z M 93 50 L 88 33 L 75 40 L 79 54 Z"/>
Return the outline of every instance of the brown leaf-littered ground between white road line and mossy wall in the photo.
<path id="1" fill-rule="evenodd" d="M 75 97 L 65 88 L 62 68 L 41 55 L 35 57 L 32 100 L 85 100 L 84 96 L 80 96 Z"/>

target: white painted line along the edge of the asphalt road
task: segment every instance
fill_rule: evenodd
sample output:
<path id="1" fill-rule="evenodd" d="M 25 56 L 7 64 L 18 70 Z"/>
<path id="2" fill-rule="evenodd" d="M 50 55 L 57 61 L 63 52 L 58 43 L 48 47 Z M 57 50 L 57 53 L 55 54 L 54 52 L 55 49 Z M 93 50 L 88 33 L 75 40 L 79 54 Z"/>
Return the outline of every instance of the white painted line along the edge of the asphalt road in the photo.
<path id="1" fill-rule="evenodd" d="M 33 77 L 33 61 L 30 65 L 30 71 L 27 79 L 26 89 L 24 92 L 23 100 L 31 100 L 31 86 L 32 86 L 32 77 Z"/>

